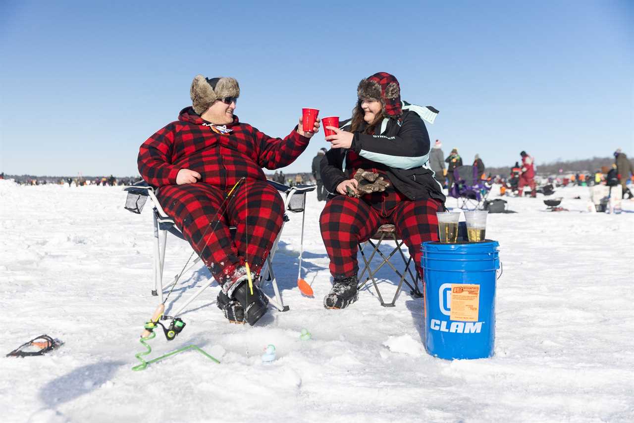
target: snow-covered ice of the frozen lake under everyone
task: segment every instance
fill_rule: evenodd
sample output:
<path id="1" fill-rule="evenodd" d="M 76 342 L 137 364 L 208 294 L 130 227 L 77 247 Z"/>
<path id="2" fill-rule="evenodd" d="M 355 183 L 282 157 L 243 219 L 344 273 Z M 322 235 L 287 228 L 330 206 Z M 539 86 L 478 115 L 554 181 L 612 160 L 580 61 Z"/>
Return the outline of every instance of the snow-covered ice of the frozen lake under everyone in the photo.
<path id="1" fill-rule="evenodd" d="M 504 266 L 493 358 L 425 353 L 423 302 L 406 292 L 394 308 L 366 288 L 349 308 L 324 309 L 324 203 L 309 193 L 302 277 L 315 297 L 297 289 L 301 215 L 290 214 L 274 261 L 290 311 L 231 325 L 214 283 L 181 315 L 187 327 L 175 341 L 157 332 L 151 357 L 196 344 L 221 364 L 186 352 L 133 372 L 139 333 L 158 305 L 150 205 L 140 216 L 126 211 L 121 187 L 0 180 L 0 352 L 40 334 L 65 342 L 46 356 L 1 359 L 0 420 L 634 421 L 634 202 L 619 215 L 591 214 L 588 188 L 555 196 L 569 211 L 545 211 L 541 196 L 506 198 L 517 214 L 488 218 Z M 190 253 L 168 238 L 165 280 Z M 380 277 L 389 297 L 391 270 Z M 207 278 L 203 267 L 183 275 L 170 301 Z M 311 340 L 300 339 L 302 328 Z M 268 344 L 276 360 L 262 363 Z"/>

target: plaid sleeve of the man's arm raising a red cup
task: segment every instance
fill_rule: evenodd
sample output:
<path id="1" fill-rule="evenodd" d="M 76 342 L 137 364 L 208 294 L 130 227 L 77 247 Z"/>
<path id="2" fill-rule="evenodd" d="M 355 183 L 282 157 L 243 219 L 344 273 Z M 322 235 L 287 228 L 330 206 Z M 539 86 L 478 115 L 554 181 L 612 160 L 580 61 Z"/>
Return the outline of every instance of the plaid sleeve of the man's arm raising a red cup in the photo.
<path id="1" fill-rule="evenodd" d="M 283 140 L 272 138 L 253 128 L 259 148 L 258 164 L 266 169 L 288 166 L 306 150 L 310 138 L 300 135 L 297 127 Z"/>

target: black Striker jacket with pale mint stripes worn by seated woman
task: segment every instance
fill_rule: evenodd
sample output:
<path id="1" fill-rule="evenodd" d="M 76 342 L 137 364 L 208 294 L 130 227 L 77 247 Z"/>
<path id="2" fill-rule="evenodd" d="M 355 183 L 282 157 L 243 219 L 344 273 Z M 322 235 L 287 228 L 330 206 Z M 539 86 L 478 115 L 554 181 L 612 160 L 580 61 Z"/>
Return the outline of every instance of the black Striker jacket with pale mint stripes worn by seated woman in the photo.
<path id="1" fill-rule="evenodd" d="M 340 123 L 340 129 L 350 130 L 351 119 Z M 429 169 L 429 134 L 420 116 L 405 110 L 401 119 L 389 119 L 380 135 L 355 132 L 350 150 L 376 163 L 392 186 L 410 200 L 434 198 L 444 204 L 441 186 Z M 352 178 L 346 163 L 347 150 L 331 148 L 321 159 L 321 179 L 328 192 L 337 195 L 337 185 Z M 346 171 L 344 172 L 344 164 Z M 424 167 L 425 166 L 425 167 Z"/>

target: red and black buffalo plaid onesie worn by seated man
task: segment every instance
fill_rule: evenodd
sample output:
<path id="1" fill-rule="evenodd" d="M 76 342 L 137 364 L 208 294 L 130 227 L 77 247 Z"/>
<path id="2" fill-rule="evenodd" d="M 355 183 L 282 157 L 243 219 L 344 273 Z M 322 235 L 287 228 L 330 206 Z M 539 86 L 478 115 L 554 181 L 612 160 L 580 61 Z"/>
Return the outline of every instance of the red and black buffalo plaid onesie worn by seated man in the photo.
<path id="1" fill-rule="evenodd" d="M 283 202 L 262 167 L 288 166 L 309 141 L 295 129 L 283 140 L 271 138 L 236 116 L 226 129 L 230 131 L 217 131 L 186 107 L 176 122 L 141 145 L 138 157 L 141 176 L 158 188 L 161 206 L 221 285 L 245 261 L 259 273 L 280 231 Z M 180 169 L 197 171 L 201 178 L 176 185 Z M 224 198 L 243 176 L 246 180 L 218 216 Z M 237 227 L 235 237 L 230 226 Z"/>

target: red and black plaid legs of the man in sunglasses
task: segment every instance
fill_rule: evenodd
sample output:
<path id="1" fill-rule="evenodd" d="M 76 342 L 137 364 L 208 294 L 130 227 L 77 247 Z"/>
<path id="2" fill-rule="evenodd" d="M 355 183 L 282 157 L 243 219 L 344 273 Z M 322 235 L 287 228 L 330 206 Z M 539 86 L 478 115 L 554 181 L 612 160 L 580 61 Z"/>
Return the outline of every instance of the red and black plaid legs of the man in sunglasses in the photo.
<path id="1" fill-rule="evenodd" d="M 162 186 L 157 198 L 221 284 L 245 261 L 259 273 L 284 214 L 280 194 L 259 180 L 240 184 L 223 210 L 226 192 L 205 183 Z M 236 227 L 233 237 L 230 226 Z"/>

